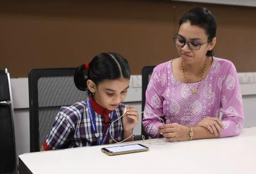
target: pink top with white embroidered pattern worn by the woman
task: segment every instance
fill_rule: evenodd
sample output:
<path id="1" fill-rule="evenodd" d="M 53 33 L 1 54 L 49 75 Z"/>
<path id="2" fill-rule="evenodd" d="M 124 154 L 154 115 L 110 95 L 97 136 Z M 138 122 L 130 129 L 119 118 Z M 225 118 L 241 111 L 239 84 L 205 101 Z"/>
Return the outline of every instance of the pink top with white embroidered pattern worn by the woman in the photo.
<path id="1" fill-rule="evenodd" d="M 188 84 L 196 89 L 198 82 Z M 214 57 L 209 73 L 202 80 L 198 93 L 177 81 L 172 73 L 172 60 L 156 66 L 146 90 L 143 126 L 153 138 L 159 137 L 162 125 L 158 115 L 166 123 L 196 125 L 204 117 L 220 117 L 224 130 L 221 137 L 239 135 L 244 126 L 242 95 L 236 68 L 229 60 Z M 151 113 L 152 112 L 152 113 Z"/>

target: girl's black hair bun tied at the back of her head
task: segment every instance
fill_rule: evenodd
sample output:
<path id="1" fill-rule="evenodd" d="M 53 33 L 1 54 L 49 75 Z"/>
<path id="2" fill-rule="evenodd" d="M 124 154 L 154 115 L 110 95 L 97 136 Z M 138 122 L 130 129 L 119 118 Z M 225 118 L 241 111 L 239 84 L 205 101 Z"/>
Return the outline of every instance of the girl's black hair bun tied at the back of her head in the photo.
<path id="1" fill-rule="evenodd" d="M 87 74 L 85 76 L 85 73 Z M 76 88 L 82 91 L 87 90 L 87 79 L 88 79 L 88 69 L 86 69 L 86 65 L 81 65 L 76 68 L 74 72 L 74 85 Z"/>

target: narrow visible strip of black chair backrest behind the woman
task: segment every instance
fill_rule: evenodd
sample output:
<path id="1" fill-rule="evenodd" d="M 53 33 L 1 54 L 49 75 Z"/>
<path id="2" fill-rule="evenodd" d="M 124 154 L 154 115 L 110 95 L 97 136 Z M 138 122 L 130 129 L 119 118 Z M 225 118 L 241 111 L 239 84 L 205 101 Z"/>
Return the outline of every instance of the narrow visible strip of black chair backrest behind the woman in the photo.
<path id="1" fill-rule="evenodd" d="M 144 66 L 142 68 L 142 111 L 144 111 L 145 101 L 146 101 L 146 87 L 148 87 L 148 82 L 150 82 L 150 77 L 154 67 L 155 66 Z M 142 119 L 143 119 L 143 113 L 142 113 Z M 143 125 L 142 125 L 142 135 L 144 135 L 145 138 L 148 139 L 148 135 L 145 133 L 145 130 L 143 129 Z"/>

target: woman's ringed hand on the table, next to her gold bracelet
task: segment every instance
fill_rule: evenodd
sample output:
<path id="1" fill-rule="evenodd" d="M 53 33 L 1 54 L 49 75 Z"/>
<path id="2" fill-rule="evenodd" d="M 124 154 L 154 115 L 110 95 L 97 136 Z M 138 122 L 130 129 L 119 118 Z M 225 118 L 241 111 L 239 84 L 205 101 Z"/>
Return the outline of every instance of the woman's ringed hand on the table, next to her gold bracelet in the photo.
<path id="1" fill-rule="evenodd" d="M 190 128 L 173 123 L 173 124 L 164 124 L 159 126 L 159 132 L 162 136 L 166 138 L 167 141 L 186 141 L 190 140 Z"/>

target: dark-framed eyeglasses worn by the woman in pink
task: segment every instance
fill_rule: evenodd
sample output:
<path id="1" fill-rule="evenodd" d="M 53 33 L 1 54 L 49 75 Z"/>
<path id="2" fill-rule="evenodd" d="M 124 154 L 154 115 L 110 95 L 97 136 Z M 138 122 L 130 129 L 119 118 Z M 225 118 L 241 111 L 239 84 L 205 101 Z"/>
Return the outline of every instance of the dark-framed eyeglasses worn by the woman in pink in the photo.
<path id="1" fill-rule="evenodd" d="M 208 39 L 206 42 L 202 44 L 196 41 L 186 41 L 186 39 L 181 38 L 180 36 L 177 36 L 177 34 L 175 34 L 173 39 L 174 39 L 174 44 L 177 45 L 178 47 L 184 47 L 185 44 L 188 44 L 188 47 L 191 50 L 199 50 L 201 45 L 206 44 L 207 42 L 210 41 L 210 39 Z"/>

